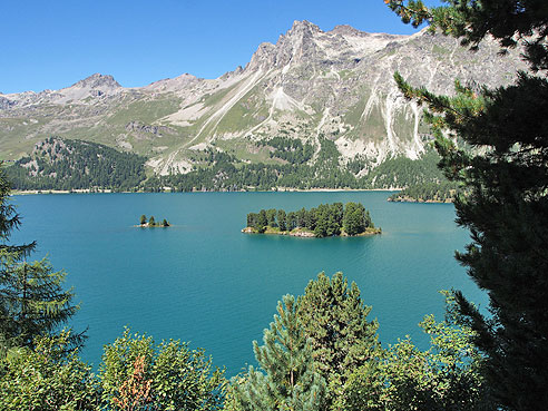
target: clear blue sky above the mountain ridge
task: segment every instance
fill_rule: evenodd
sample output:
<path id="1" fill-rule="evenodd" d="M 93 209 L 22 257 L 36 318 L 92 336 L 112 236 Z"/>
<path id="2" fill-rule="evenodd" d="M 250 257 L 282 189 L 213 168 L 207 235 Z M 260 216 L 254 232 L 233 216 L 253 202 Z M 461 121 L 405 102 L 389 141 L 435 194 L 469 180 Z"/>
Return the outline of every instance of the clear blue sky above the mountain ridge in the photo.
<path id="1" fill-rule="evenodd" d="M 438 1 L 427 1 L 436 4 Z M 0 92 L 59 89 L 100 72 L 125 87 L 244 66 L 294 20 L 412 33 L 383 0 L 1 1 Z"/>

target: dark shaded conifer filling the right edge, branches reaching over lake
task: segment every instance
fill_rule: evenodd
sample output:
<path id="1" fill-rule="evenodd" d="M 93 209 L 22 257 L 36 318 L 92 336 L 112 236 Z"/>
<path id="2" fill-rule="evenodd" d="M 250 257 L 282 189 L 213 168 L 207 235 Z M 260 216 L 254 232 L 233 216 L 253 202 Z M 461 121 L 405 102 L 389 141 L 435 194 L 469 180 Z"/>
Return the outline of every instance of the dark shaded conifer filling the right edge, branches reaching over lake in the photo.
<path id="1" fill-rule="evenodd" d="M 461 320 L 477 333 L 487 378 L 501 409 L 548 404 L 548 2 L 545 0 L 386 0 L 404 22 L 460 38 L 472 49 L 488 35 L 501 51 L 522 47 L 536 75 L 493 90 L 457 82 L 454 97 L 395 79 L 405 97 L 428 107 L 444 174 L 468 193 L 456 200 L 458 224 L 472 243 L 458 261 L 489 295 L 482 315 L 461 293 Z M 460 137 L 472 149 L 457 147 Z"/>

